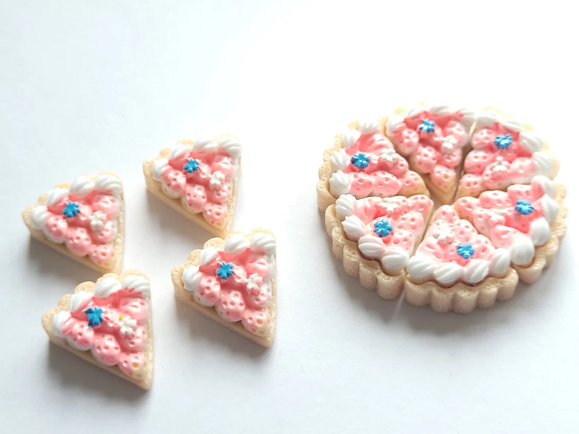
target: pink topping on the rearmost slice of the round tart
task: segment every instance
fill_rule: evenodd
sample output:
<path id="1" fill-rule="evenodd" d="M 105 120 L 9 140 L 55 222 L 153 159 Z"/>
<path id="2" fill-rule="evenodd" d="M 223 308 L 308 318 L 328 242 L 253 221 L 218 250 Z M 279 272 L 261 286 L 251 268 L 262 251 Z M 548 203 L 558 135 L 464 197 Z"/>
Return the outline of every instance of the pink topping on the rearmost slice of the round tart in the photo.
<path id="1" fill-rule="evenodd" d="M 405 117 L 394 131 L 398 151 L 410 155 L 411 161 L 420 173 L 430 174 L 435 186 L 449 189 L 456 181 L 455 168 L 460 164 L 462 147 L 467 141 L 468 131 L 460 123 L 463 115 L 457 112 L 450 116 L 433 115 L 422 112 Z M 424 119 L 434 121 L 434 131 L 421 131 L 419 126 Z M 452 149 L 442 147 L 444 138 L 453 138 L 456 144 Z"/>

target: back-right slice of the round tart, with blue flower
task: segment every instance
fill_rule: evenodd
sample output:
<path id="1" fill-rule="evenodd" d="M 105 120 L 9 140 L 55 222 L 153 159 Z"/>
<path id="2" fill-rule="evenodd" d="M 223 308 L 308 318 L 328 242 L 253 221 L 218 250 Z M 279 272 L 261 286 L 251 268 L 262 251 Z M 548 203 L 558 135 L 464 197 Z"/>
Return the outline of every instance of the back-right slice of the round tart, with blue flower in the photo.
<path id="1" fill-rule="evenodd" d="M 553 179 L 559 168 L 536 133 L 495 109 L 486 109 L 477 117 L 471 144 L 458 197 L 527 184 L 535 175 Z"/>

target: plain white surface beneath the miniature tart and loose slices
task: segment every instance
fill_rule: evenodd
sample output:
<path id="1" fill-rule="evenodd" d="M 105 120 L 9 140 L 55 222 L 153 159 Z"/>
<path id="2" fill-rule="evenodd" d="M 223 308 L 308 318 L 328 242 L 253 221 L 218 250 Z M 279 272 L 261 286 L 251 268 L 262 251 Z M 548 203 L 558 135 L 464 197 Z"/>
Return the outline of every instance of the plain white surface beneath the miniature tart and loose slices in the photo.
<path id="1" fill-rule="evenodd" d="M 1 432 L 577 432 L 575 227 L 532 288 L 437 315 L 347 276 L 315 194 L 335 133 L 416 100 L 530 120 L 571 185 L 576 13 L 555 1 L 88 3 L 0 2 Z M 245 144 L 234 229 L 278 237 L 270 350 L 173 296 L 171 267 L 210 235 L 145 192 L 141 163 L 206 131 Z M 30 241 L 21 209 L 101 170 L 124 181 L 125 268 L 152 282 L 146 393 L 49 345 L 40 323 L 98 275 Z M 573 221 L 576 190 L 567 204 Z"/>

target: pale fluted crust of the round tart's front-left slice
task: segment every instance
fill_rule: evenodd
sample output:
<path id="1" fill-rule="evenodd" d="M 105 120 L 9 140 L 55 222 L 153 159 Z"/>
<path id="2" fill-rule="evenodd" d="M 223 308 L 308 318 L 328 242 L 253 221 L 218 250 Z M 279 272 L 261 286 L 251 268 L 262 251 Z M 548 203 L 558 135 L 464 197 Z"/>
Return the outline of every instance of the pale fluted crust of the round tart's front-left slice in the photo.
<path id="1" fill-rule="evenodd" d="M 384 273 L 377 260 L 364 258 L 357 242 L 346 238 L 342 223 L 336 216 L 335 205 L 330 205 L 325 211 L 325 226 L 332 238 L 332 252 L 336 258 L 342 260 L 347 274 L 358 277 L 364 288 L 375 290 L 384 299 L 393 300 L 400 297 L 404 289 L 404 271 L 389 275 Z M 416 240 L 415 248 L 418 244 L 420 239 Z"/>

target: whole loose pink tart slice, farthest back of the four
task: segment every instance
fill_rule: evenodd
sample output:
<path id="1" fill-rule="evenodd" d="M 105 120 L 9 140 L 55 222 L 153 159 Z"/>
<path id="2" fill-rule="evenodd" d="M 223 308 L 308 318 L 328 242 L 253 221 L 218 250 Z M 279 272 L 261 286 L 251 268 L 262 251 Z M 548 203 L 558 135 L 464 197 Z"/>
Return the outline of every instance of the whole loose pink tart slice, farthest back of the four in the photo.
<path id="1" fill-rule="evenodd" d="M 235 212 L 241 145 L 232 135 L 181 140 L 143 164 L 147 188 L 212 234 L 225 237 Z"/>

